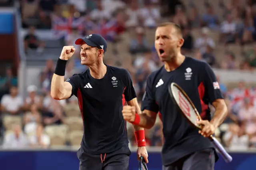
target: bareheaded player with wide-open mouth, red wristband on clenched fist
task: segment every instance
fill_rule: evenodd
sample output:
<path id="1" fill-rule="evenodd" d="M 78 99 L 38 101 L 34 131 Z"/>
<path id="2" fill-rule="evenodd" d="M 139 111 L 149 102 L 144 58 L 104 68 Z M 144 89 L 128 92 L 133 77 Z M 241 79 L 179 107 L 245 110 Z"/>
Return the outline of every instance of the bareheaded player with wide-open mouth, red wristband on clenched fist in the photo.
<path id="1" fill-rule="evenodd" d="M 126 121 L 151 128 L 159 112 L 163 122 L 165 143 L 162 148 L 163 170 L 214 170 L 218 155 L 207 138 L 224 121 L 227 107 L 211 67 L 180 53 L 184 43 L 181 28 L 164 23 L 156 29 L 155 47 L 164 66 L 147 80 L 142 99 L 142 114 L 132 106 L 123 107 Z M 170 98 L 168 86 L 175 82 L 188 94 L 199 111 L 204 128 L 199 131 L 183 117 Z M 211 104 L 215 113 L 211 119 Z"/>

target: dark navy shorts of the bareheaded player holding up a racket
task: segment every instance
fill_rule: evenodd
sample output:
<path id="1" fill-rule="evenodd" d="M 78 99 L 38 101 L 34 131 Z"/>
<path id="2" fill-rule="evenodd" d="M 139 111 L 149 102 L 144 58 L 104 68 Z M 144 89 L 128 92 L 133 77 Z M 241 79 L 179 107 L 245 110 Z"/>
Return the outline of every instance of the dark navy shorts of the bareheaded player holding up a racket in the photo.
<path id="1" fill-rule="evenodd" d="M 214 170 L 215 151 L 213 148 L 200 150 L 180 158 L 163 170 Z"/>

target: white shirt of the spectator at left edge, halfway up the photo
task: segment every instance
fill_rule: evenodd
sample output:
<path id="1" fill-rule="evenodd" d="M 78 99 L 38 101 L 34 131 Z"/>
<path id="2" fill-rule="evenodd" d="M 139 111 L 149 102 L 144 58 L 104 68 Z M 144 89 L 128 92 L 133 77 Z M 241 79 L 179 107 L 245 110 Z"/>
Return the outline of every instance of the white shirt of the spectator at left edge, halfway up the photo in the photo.
<path id="1" fill-rule="evenodd" d="M 1 105 L 4 106 L 7 111 L 18 111 L 18 109 L 23 105 L 22 97 L 4 95 L 1 100 Z"/>

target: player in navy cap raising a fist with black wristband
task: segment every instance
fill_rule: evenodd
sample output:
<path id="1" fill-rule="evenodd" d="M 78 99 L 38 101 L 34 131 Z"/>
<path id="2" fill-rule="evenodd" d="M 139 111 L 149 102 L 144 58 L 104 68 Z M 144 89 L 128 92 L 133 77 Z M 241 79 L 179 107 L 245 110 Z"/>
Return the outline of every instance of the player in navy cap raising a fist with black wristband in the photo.
<path id="1" fill-rule="evenodd" d="M 78 98 L 84 122 L 84 135 L 77 154 L 79 170 L 128 170 L 130 150 L 122 106 L 127 102 L 140 112 L 130 74 L 103 63 L 107 42 L 99 34 L 91 34 L 75 43 L 81 45 L 81 64 L 89 69 L 64 82 L 66 63 L 75 52 L 73 46 L 64 46 L 52 77 L 51 96 L 56 100 L 72 95 Z M 143 156 L 148 162 L 144 129 L 138 126 L 134 129 L 138 159 Z"/>

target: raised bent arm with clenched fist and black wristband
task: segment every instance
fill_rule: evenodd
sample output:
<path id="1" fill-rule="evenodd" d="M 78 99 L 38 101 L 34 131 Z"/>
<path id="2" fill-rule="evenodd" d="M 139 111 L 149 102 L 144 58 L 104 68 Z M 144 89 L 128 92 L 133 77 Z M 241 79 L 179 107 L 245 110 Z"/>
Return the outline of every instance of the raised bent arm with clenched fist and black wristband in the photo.
<path id="1" fill-rule="evenodd" d="M 64 81 L 66 63 L 74 54 L 74 46 L 64 46 L 57 61 L 56 69 L 52 76 L 51 96 L 53 99 L 67 99 L 72 95 L 72 85 Z"/>

